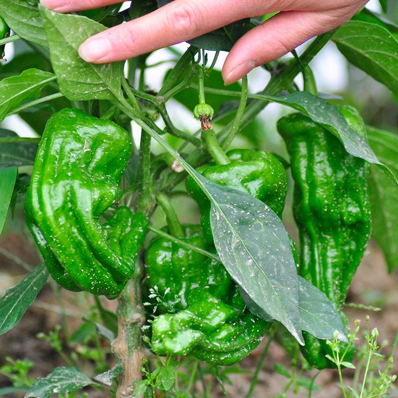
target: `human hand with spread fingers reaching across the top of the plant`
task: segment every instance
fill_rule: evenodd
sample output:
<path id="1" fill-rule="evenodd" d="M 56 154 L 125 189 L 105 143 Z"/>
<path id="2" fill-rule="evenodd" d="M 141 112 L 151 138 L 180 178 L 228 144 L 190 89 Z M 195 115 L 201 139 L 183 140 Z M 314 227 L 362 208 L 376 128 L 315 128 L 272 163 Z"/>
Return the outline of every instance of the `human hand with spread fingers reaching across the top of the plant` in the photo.
<path id="1" fill-rule="evenodd" d="M 117 0 L 40 0 L 57 12 L 109 5 Z M 281 11 L 243 35 L 224 66 L 225 84 L 236 82 L 256 66 L 273 61 L 309 38 L 345 23 L 368 0 L 175 0 L 98 33 L 79 48 L 87 62 L 102 64 L 190 40 L 233 21 Z"/>

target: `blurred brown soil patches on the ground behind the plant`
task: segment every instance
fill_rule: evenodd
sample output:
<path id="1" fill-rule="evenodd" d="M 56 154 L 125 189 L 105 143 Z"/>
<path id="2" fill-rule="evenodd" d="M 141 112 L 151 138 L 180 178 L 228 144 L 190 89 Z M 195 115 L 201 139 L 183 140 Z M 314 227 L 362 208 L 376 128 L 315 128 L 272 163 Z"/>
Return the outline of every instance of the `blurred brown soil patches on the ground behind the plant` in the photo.
<path id="1" fill-rule="evenodd" d="M 18 256 L 31 265 L 38 264 L 39 259 L 32 246 L 21 236 L 15 233 L 8 233 L 0 239 L 0 250 L 5 249 Z M 25 271 L 13 261 L 0 254 L 0 296 L 4 291 L 13 286 L 23 276 Z M 380 312 L 371 312 L 358 308 L 346 308 L 346 313 L 353 325 L 355 319 L 361 319 L 365 324 L 365 315 L 371 317 L 371 328 L 378 327 L 380 332 L 379 342 L 388 340 L 391 347 L 398 330 L 398 280 L 397 273 L 388 275 L 383 255 L 373 243 L 369 245 L 364 260 L 354 277 L 347 302 L 362 303 L 366 305 L 380 306 Z M 46 286 L 40 292 L 38 298 L 40 306 L 55 305 L 55 298 L 51 289 Z M 115 301 L 109 302 L 115 305 Z M 52 330 L 57 323 L 60 323 L 60 315 L 56 312 L 44 310 L 40 306 L 32 305 L 24 314 L 16 327 L 0 337 L 0 366 L 4 363 L 5 356 L 16 358 L 28 358 L 35 362 L 34 368 L 29 373 L 30 377 L 43 377 L 50 373 L 57 366 L 65 366 L 64 360 L 42 340 L 37 339 L 39 332 Z M 79 320 L 71 318 L 71 329 L 78 327 Z M 260 346 L 246 359 L 241 361 L 241 367 L 247 373 L 234 374 L 230 378 L 232 385 L 226 385 L 226 391 L 230 398 L 245 397 L 253 372 L 256 369 L 261 353 L 265 347 L 267 338 Z M 386 349 L 386 353 L 388 350 Z M 276 343 L 272 343 L 263 369 L 258 378 L 257 387 L 253 397 L 271 398 L 283 391 L 287 383 L 284 376 L 276 373 L 274 363 L 284 364 L 289 368 L 289 359 L 284 349 Z M 395 373 L 398 374 L 398 361 Z M 346 381 L 352 377 L 351 370 L 344 370 Z M 307 372 L 305 375 L 311 377 L 316 370 Z M 341 398 L 342 393 L 338 387 L 339 380 L 336 371 L 322 371 L 316 379 L 316 384 L 321 391 L 312 393 L 312 398 Z M 9 379 L 0 376 L 0 388 L 10 386 Z M 200 389 L 200 386 L 198 387 Z M 98 393 L 91 392 L 90 398 L 100 397 Z M 14 395 L 13 397 L 22 397 Z M 213 397 L 222 397 L 222 393 L 215 383 Z M 288 392 L 286 397 L 307 397 L 308 393 L 301 389 L 297 395 Z M 10 396 L 11 397 L 11 396 Z"/>

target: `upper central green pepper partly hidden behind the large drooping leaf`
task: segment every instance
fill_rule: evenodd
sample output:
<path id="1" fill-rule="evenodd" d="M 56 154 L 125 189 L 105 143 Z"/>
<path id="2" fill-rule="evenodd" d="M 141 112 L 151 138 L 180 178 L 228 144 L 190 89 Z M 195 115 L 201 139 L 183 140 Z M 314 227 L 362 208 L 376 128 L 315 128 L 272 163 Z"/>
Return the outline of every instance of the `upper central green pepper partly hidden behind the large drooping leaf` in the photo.
<path id="1" fill-rule="evenodd" d="M 197 170 L 216 184 L 234 188 L 262 200 L 281 218 L 285 206 L 287 179 L 285 168 L 279 159 L 272 153 L 252 149 L 233 149 L 226 155 L 231 163 L 218 166 L 208 163 Z M 213 243 L 210 201 L 191 177 L 187 178 L 186 187 L 199 205 L 204 239 Z"/>

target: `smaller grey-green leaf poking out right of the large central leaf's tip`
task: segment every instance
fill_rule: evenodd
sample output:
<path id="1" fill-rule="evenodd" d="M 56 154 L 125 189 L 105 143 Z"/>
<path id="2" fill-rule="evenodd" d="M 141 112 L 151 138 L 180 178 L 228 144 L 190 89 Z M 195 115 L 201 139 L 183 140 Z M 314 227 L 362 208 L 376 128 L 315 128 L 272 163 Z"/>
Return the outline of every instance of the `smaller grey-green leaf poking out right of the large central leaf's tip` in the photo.
<path id="1" fill-rule="evenodd" d="M 338 340 L 348 343 L 340 316 L 329 299 L 304 278 L 298 277 L 298 309 L 300 326 L 319 339 L 332 339 L 337 330 Z"/>

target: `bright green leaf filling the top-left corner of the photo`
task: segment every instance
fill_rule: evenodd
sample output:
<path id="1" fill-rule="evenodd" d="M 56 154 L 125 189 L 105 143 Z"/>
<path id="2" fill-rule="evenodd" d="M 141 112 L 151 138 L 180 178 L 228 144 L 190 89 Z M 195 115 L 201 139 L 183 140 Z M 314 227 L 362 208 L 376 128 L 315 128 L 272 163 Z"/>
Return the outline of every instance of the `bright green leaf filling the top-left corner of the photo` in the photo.
<path id="1" fill-rule="evenodd" d="M 32 5 L 26 0 L 0 0 L 0 14 L 17 35 L 47 47 L 43 21 L 37 5 Z"/>

